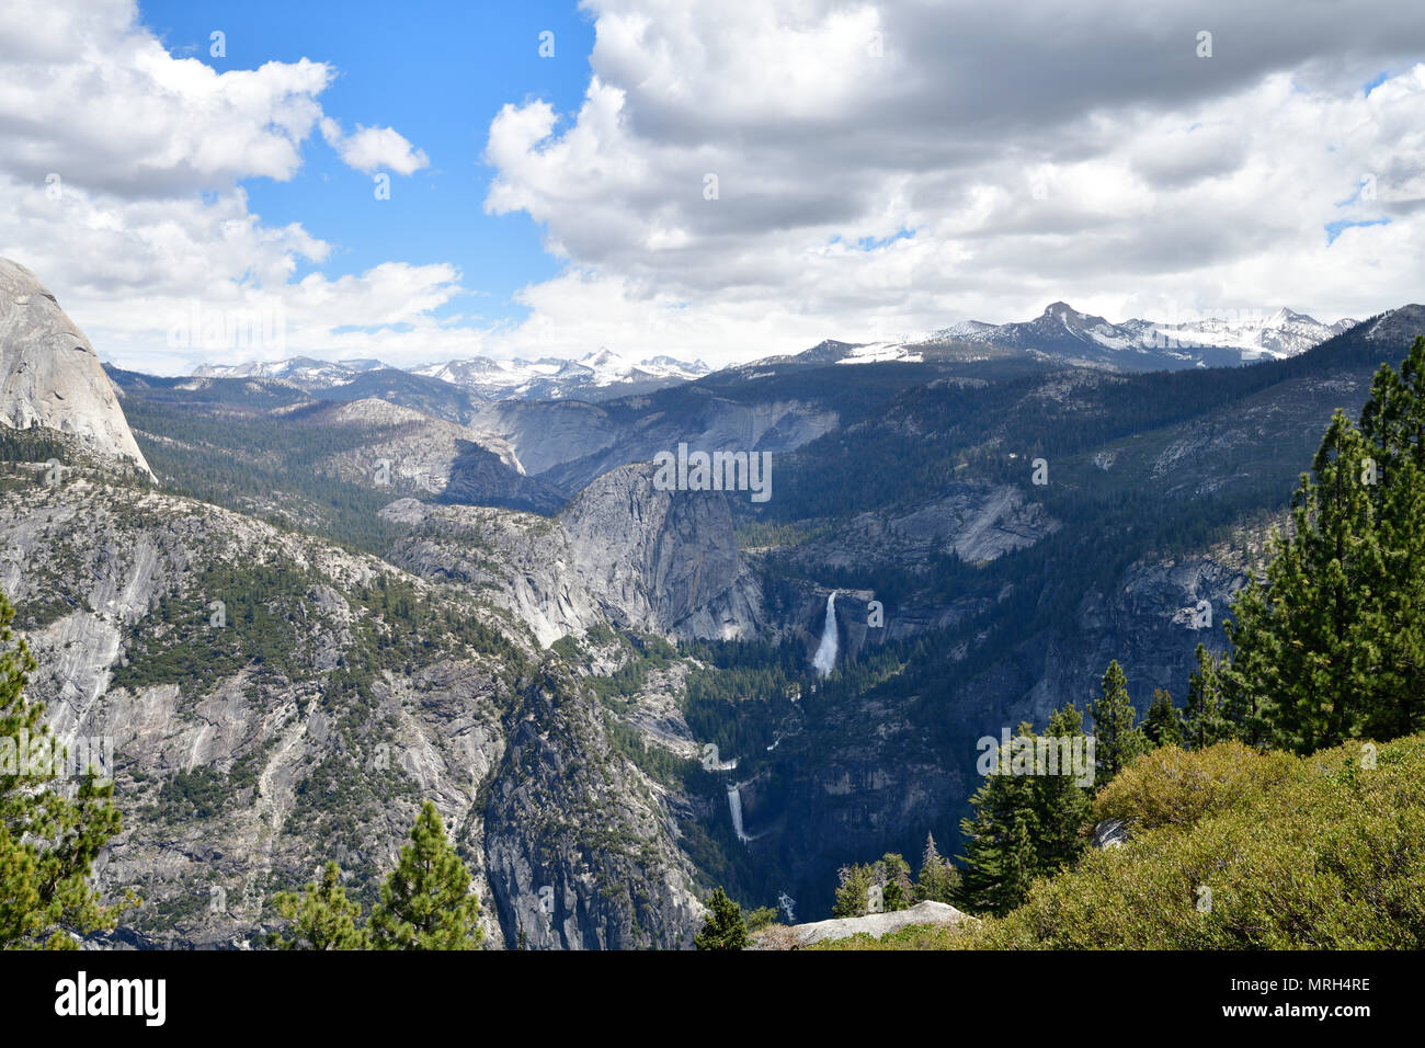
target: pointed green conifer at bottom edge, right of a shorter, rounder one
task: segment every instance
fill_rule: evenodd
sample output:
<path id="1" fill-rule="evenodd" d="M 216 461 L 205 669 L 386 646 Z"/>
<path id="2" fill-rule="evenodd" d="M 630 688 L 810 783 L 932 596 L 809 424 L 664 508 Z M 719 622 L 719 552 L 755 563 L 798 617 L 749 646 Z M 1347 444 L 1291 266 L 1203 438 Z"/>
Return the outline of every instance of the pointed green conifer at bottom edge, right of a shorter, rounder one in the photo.
<path id="1" fill-rule="evenodd" d="M 484 938 L 479 918 L 470 871 L 446 838 L 436 806 L 426 801 L 410 828 L 410 844 L 380 885 L 380 903 L 370 915 L 372 945 L 475 950 Z"/>

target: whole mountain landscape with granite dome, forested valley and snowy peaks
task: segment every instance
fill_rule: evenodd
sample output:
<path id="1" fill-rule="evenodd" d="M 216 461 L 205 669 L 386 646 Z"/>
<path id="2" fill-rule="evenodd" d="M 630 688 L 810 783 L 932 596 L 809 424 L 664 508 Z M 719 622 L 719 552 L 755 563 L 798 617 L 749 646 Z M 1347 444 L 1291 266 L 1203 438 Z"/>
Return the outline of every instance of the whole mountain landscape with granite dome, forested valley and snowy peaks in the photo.
<path id="1" fill-rule="evenodd" d="M 489 399 L 104 369 L 4 272 L 6 368 L 44 381 L 0 402 L 0 590 L 56 731 L 115 741 L 98 878 L 145 901 L 114 945 L 259 942 L 326 858 L 369 903 L 425 798 L 490 945 L 688 945 L 714 884 L 825 915 L 846 863 L 953 854 L 980 736 L 1082 709 L 1110 659 L 1140 710 L 1181 700 L 1226 646 L 1203 602 L 1220 626 L 1331 412 L 1425 332 L 1404 305 L 1153 349 L 1056 304 Z M 678 443 L 768 452 L 771 499 L 660 489 Z"/>

